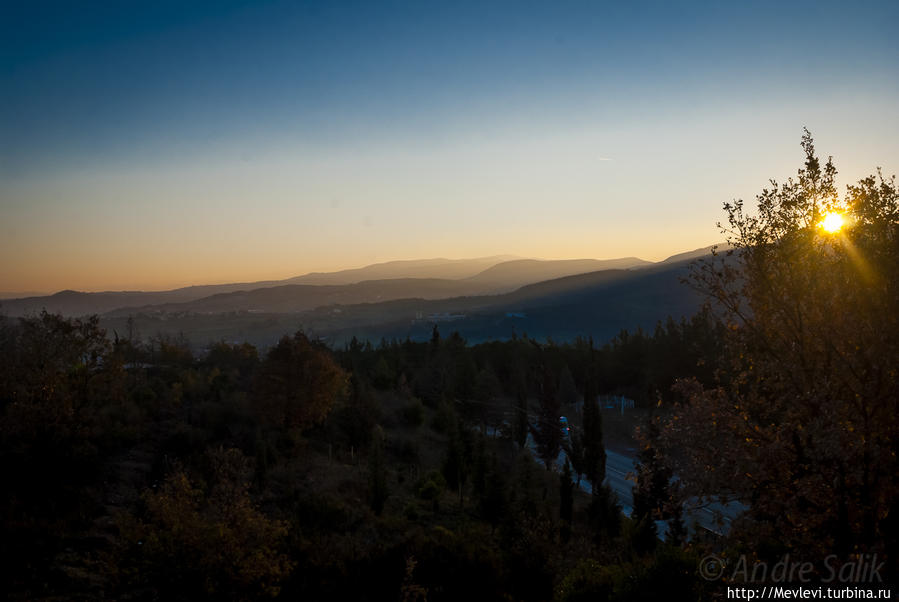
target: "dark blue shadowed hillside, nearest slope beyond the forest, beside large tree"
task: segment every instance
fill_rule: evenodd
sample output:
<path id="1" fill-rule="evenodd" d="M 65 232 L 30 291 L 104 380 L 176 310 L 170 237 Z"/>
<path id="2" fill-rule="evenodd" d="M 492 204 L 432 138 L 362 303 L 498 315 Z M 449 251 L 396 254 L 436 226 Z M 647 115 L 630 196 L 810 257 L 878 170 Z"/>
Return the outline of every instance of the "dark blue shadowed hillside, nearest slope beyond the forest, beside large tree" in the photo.
<path id="1" fill-rule="evenodd" d="M 651 329 L 669 315 L 679 319 L 695 313 L 701 296 L 681 282 L 689 264 L 687 260 L 642 270 L 603 270 L 503 295 L 320 308 L 303 324 L 338 344 L 352 336 L 425 339 L 435 323 L 442 331 L 458 330 L 473 342 L 523 333 L 559 341 L 576 336 L 604 341 L 622 328 Z"/>

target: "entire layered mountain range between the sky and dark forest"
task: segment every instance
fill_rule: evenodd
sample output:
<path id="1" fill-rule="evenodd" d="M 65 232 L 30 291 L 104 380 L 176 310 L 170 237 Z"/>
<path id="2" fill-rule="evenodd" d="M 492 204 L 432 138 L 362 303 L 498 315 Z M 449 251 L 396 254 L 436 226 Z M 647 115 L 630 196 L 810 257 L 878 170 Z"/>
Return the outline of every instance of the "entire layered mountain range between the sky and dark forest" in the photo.
<path id="1" fill-rule="evenodd" d="M 0 312 L 97 313 L 110 334 L 126 332 L 130 317 L 140 335 L 184 335 L 200 347 L 216 340 L 265 347 L 299 328 L 337 345 L 353 336 L 425 339 L 435 324 L 473 342 L 524 333 L 603 341 L 622 328 L 648 329 L 669 315 L 679 319 L 695 313 L 702 299 L 681 280 L 709 249 L 657 263 L 635 257 L 543 261 L 507 256 L 397 261 L 281 281 L 161 292 L 62 291 L 3 301 Z"/>

